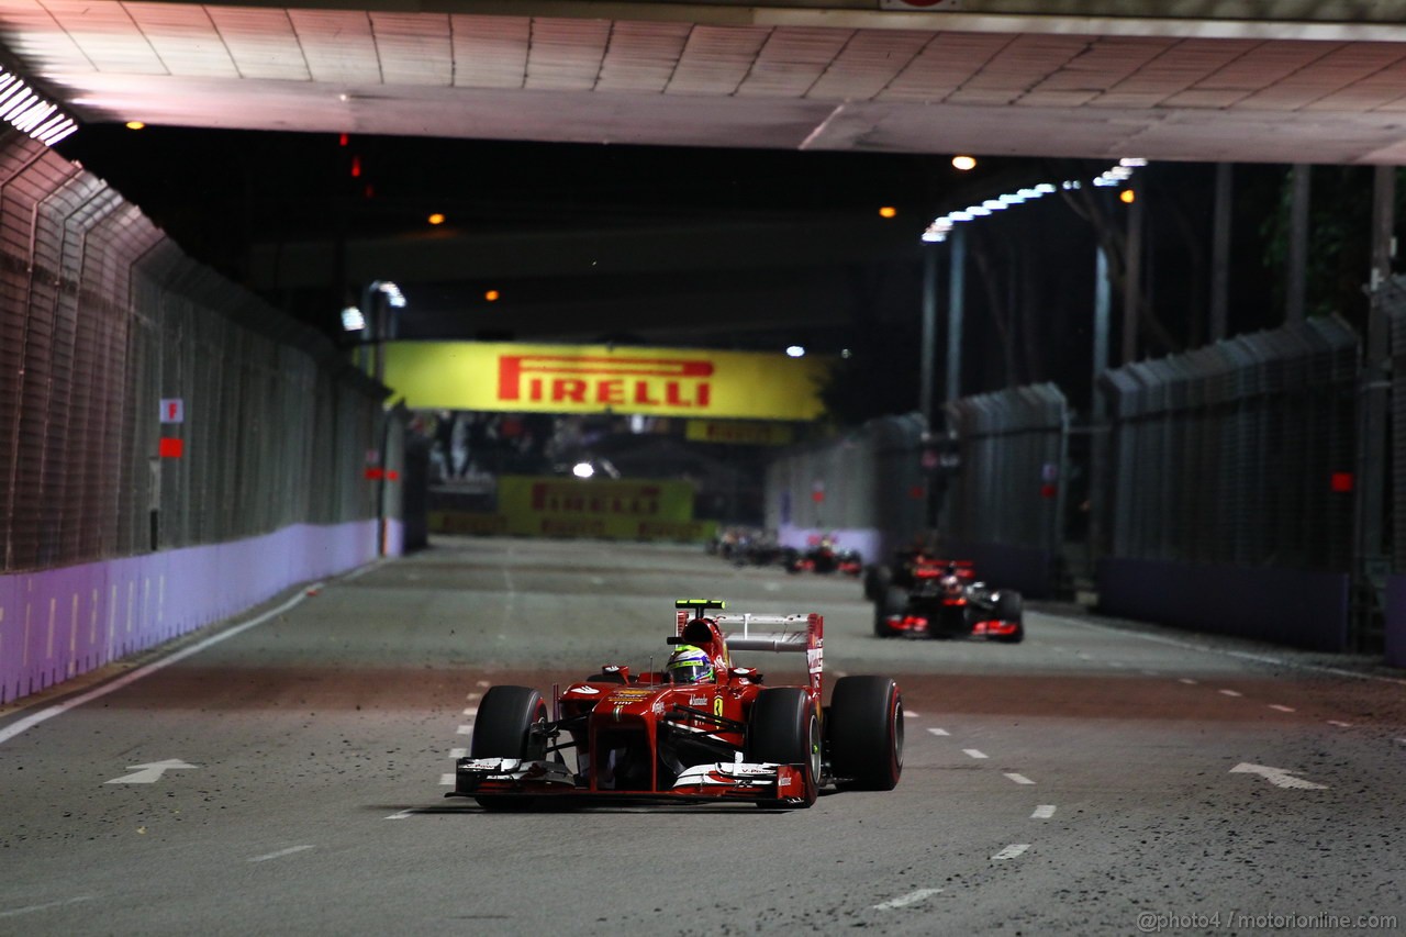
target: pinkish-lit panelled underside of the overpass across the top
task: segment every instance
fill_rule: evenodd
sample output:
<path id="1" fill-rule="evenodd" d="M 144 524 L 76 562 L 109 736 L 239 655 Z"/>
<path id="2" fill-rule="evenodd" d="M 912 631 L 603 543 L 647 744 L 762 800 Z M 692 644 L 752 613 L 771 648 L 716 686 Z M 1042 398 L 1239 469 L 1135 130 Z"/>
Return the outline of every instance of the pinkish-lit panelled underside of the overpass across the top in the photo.
<path id="1" fill-rule="evenodd" d="M 1406 159 L 1406 25 L 1391 21 L 1399 3 L 946 0 L 912 11 L 918 4 L 0 0 L 0 42 L 84 121 L 669 146 Z M 1216 7 L 1278 17 L 1108 14 Z M 1029 13 L 1040 8 L 1060 13 Z M 1324 11 L 1350 20 L 1324 21 Z"/>

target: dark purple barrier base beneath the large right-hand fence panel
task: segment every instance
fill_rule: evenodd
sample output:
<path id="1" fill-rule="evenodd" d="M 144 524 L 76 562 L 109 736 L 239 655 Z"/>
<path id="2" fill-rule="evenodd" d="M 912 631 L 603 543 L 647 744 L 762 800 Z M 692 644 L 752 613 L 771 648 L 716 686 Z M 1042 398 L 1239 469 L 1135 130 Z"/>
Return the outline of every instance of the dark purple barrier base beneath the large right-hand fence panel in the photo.
<path id="1" fill-rule="evenodd" d="M 1309 650 L 1347 647 L 1347 575 L 1105 557 L 1098 609 Z"/>

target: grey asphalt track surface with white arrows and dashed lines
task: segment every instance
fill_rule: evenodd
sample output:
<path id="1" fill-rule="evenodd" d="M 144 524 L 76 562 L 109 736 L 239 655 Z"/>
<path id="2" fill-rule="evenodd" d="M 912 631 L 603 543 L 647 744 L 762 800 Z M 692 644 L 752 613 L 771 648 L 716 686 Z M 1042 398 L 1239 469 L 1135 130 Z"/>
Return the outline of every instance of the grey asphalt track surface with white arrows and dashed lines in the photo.
<path id="1" fill-rule="evenodd" d="M 897 678 L 898 788 L 443 798 L 489 685 L 659 665 L 679 597 L 821 612 L 828 677 Z M 849 578 L 436 540 L 0 710 L 0 934 L 1406 929 L 1406 674 L 1069 608 L 1026 630 L 882 640 Z M 796 657 L 738 654 L 768 684 Z"/>

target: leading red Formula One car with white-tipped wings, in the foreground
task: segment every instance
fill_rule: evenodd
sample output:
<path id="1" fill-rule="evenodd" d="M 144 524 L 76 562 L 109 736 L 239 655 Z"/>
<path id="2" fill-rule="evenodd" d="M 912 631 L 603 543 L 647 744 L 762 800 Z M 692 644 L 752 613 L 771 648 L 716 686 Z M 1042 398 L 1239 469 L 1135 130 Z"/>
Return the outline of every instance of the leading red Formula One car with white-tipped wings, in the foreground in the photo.
<path id="1" fill-rule="evenodd" d="M 527 687 L 484 694 L 454 791 L 488 809 L 546 798 L 747 801 L 808 808 L 820 788 L 891 791 L 903 771 L 903 696 L 887 677 L 842 677 L 821 705 L 820 615 L 721 615 L 681 599 L 662 671 L 623 664 L 548 701 Z M 766 687 L 733 651 L 806 654 L 803 687 Z M 572 750 L 568 764 L 564 751 Z"/>

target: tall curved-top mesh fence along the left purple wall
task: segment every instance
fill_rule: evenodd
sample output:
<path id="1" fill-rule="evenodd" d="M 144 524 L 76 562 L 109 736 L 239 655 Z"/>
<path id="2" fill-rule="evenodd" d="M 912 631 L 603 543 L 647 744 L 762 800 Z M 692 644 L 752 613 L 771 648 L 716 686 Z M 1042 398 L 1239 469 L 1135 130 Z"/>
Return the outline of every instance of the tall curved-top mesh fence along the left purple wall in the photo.
<path id="1" fill-rule="evenodd" d="M 0 573 L 374 518 L 382 394 L 104 181 L 0 136 Z"/>

